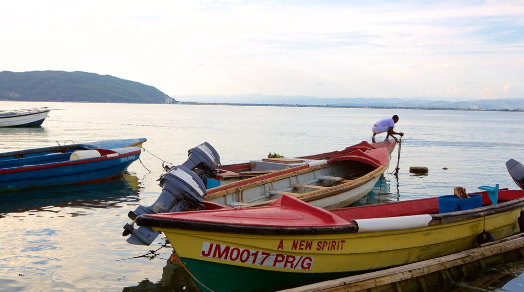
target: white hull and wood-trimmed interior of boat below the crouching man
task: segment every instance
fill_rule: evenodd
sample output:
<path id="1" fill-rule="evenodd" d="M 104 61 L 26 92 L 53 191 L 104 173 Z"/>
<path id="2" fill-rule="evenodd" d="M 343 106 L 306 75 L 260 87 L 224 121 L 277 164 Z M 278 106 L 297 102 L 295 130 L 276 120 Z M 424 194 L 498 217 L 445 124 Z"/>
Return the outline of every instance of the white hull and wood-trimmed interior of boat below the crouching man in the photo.
<path id="1" fill-rule="evenodd" d="M 252 183 L 226 184 L 208 190 L 206 200 L 230 207 L 267 205 L 282 194 L 296 196 L 309 204 L 333 209 L 351 205 L 368 194 L 380 175 L 387 170 L 389 159 L 384 149 L 384 165 L 377 167 L 347 160 L 310 166 L 291 172 L 294 168 L 259 176 Z M 272 176 L 272 177 L 271 177 Z M 227 186 L 230 185 L 230 188 Z"/>

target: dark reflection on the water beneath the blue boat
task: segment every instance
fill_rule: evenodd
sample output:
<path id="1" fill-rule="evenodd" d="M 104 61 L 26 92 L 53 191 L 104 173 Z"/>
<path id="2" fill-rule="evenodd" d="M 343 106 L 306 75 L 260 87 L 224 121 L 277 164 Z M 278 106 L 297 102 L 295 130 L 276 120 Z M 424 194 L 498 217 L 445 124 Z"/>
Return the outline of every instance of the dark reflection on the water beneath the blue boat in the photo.
<path id="1" fill-rule="evenodd" d="M 123 201 L 138 201 L 140 188 L 137 176 L 126 172 L 97 183 L 6 192 L 0 201 L 0 218 L 27 211 L 50 211 L 56 207 L 117 208 Z"/>

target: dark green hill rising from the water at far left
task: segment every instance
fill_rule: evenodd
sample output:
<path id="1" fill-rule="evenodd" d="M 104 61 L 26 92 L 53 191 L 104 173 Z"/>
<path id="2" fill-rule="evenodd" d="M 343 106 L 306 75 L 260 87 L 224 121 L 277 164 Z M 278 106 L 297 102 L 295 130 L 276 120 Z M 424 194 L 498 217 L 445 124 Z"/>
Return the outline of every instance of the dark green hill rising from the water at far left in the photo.
<path id="1" fill-rule="evenodd" d="M 0 100 L 160 104 L 168 97 L 153 86 L 110 75 L 80 71 L 0 72 Z"/>

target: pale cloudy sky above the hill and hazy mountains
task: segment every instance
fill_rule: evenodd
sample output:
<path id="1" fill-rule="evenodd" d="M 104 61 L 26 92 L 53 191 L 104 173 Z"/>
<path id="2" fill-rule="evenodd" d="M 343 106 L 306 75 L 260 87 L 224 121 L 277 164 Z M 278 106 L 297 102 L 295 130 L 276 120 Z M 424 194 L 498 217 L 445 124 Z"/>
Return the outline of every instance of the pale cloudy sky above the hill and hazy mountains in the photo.
<path id="1" fill-rule="evenodd" d="M 524 98 L 524 0 L 2 1 L 0 39 L 0 71 L 172 97 Z"/>

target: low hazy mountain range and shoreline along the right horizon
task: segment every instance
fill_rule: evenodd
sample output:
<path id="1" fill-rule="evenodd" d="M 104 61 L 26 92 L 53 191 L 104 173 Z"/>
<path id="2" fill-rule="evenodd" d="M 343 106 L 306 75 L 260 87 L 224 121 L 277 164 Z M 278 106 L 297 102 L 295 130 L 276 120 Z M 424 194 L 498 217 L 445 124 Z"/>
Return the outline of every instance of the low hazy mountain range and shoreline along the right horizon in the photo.
<path id="1" fill-rule="evenodd" d="M 180 102 L 229 103 L 229 104 L 272 104 L 313 105 L 341 107 L 397 107 L 397 108 L 442 108 L 442 109 L 524 109 L 524 98 L 478 99 L 464 102 L 446 100 L 421 100 L 401 98 L 321 98 L 314 96 L 285 95 L 177 95 Z"/>

